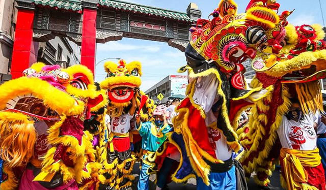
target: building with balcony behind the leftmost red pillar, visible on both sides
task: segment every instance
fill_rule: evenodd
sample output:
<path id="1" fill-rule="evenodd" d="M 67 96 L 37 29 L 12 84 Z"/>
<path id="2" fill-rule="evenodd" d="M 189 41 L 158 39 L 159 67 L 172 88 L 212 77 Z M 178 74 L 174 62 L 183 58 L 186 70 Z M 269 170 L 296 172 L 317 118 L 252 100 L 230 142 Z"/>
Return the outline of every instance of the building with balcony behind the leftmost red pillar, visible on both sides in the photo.
<path id="1" fill-rule="evenodd" d="M 11 76 L 11 59 L 16 31 L 17 3 L 14 0 L 0 1 L 0 83 Z M 36 61 L 47 65 L 60 64 L 67 67 L 80 64 L 80 46 L 67 38 L 55 37 L 47 42 L 34 42 Z"/>

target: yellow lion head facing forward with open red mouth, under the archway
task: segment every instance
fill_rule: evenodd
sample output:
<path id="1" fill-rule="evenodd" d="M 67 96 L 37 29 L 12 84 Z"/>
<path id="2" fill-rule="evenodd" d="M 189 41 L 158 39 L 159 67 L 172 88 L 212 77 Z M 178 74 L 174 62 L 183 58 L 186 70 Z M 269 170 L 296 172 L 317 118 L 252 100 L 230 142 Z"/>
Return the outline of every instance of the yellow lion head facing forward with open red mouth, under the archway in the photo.
<path id="1" fill-rule="evenodd" d="M 117 65 L 113 61 L 104 64 L 107 73 L 104 81 L 100 83 L 102 89 L 107 90 L 109 104 L 107 113 L 109 115 L 121 115 L 126 113 L 130 100 L 134 97 L 137 109 L 140 107 L 142 96 L 146 96 L 139 87 L 142 84 L 142 65 L 139 61 L 131 61 L 129 64 L 124 60 L 119 60 Z M 147 98 L 145 106 L 140 110 L 143 120 L 148 120 L 154 110 L 154 101 Z"/>

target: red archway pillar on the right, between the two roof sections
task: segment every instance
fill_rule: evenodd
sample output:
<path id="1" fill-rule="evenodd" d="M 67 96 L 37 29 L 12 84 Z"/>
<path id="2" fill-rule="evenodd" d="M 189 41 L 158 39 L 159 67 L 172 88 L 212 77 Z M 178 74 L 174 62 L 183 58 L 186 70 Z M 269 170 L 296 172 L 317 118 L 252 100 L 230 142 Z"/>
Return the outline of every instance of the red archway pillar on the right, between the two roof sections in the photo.
<path id="1" fill-rule="evenodd" d="M 95 76 L 96 56 L 96 9 L 84 9 L 82 30 L 81 64 L 87 66 Z"/>

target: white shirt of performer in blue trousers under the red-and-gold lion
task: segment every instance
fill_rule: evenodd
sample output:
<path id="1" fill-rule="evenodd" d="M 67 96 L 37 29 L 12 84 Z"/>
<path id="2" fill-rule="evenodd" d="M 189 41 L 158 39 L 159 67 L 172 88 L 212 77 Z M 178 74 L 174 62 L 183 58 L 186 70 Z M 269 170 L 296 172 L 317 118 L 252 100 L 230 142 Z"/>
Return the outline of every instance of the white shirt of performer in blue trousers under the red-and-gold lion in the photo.
<path id="1" fill-rule="evenodd" d="M 206 126 L 217 121 L 211 108 L 220 99 L 219 94 L 216 93 L 218 85 L 219 81 L 215 74 L 199 77 L 195 85 L 193 100 L 204 110 Z M 228 146 L 224 134 L 219 130 L 212 130 L 211 128 L 207 128 L 207 133 L 209 141 L 215 150 L 216 157 L 222 161 L 229 160 L 232 156 L 232 149 Z"/>

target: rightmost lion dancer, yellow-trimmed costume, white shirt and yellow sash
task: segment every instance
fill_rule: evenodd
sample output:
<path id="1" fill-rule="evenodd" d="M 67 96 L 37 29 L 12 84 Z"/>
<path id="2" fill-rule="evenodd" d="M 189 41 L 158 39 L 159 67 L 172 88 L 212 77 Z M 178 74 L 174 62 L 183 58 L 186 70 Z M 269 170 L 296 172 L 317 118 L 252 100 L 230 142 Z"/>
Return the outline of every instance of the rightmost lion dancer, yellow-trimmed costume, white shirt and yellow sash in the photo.
<path id="1" fill-rule="evenodd" d="M 279 156 L 284 188 L 325 189 L 314 130 L 322 111 L 318 79 L 326 76 L 324 33 L 319 25 L 285 29 L 280 52 L 266 48 L 252 61 L 251 87 L 268 90 L 253 101 L 249 124 L 238 132 L 246 150 L 241 163 L 248 178 L 255 171 L 256 183 L 267 186 Z"/>

